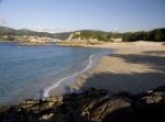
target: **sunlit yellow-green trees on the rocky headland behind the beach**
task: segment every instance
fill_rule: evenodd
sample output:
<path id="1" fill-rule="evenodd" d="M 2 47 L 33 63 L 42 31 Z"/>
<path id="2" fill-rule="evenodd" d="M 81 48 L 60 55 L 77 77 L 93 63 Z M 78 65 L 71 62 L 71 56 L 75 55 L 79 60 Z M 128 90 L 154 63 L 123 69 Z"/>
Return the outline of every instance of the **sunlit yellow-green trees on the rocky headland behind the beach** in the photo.
<path id="1" fill-rule="evenodd" d="M 112 38 L 121 37 L 121 34 L 112 32 L 108 33 L 102 31 L 80 31 L 80 34 L 75 33 L 73 36 L 73 38 L 78 37 L 80 37 L 81 40 L 97 38 L 98 41 L 113 42 Z"/>

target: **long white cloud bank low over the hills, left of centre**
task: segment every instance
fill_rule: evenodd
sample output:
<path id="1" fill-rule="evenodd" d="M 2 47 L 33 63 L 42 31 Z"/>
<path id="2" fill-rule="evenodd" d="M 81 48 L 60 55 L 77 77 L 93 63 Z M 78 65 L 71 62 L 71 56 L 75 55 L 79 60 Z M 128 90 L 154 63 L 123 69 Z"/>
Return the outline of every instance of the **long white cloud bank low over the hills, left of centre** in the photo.
<path id="1" fill-rule="evenodd" d="M 48 33 L 61 33 L 64 32 L 64 29 L 59 27 L 50 27 L 47 25 L 36 25 L 32 27 L 26 27 L 28 30 L 36 31 L 36 32 L 48 32 Z"/>

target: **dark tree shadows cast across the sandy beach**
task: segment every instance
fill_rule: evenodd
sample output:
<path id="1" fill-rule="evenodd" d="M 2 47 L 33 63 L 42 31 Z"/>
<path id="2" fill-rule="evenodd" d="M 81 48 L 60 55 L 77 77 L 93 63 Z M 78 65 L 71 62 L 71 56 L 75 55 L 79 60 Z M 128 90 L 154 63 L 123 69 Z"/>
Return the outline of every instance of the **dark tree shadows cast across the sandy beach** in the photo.
<path id="1" fill-rule="evenodd" d="M 101 73 L 89 74 L 89 78 L 81 90 L 96 86 L 97 89 L 107 89 L 109 92 L 129 91 L 132 93 L 141 92 L 165 85 L 165 51 L 143 52 L 136 54 L 113 54 L 113 57 L 124 59 L 129 64 L 142 64 L 148 66 L 152 71 L 147 73 Z M 143 68 L 143 67 L 142 67 Z M 88 73 L 86 73 L 88 75 Z M 95 79 L 95 80 L 94 80 Z M 86 85 L 87 84 L 87 85 Z M 88 87 L 87 87 L 88 86 Z"/>

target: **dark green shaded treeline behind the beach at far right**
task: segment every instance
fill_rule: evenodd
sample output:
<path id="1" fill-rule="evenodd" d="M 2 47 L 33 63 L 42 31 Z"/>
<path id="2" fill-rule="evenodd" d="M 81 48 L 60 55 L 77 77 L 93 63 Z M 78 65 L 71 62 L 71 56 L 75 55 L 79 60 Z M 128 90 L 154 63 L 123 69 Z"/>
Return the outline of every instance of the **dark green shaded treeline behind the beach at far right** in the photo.
<path id="1" fill-rule="evenodd" d="M 148 32 L 127 32 L 122 34 L 123 42 L 134 42 L 134 41 L 154 41 L 164 42 L 165 41 L 165 29 L 155 29 Z"/>

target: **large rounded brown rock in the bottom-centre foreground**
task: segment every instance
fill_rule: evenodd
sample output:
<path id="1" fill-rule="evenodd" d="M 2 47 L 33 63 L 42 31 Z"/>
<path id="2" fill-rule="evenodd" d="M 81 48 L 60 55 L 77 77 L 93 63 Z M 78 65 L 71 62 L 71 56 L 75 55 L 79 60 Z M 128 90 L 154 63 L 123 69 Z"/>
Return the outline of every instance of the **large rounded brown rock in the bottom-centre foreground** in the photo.
<path id="1" fill-rule="evenodd" d="M 138 122 L 138 117 L 130 102 L 119 97 L 107 96 L 96 99 L 86 103 L 79 113 L 82 120 L 80 122 Z"/>

